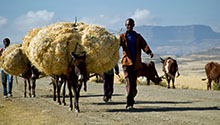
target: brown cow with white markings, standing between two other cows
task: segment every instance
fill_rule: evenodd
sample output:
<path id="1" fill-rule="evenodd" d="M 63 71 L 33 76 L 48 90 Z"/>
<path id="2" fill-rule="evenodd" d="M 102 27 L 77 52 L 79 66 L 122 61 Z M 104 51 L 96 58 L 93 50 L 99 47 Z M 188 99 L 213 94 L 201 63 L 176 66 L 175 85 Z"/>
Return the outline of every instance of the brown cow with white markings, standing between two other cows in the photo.
<path id="1" fill-rule="evenodd" d="M 172 80 L 172 83 L 173 83 L 172 88 L 175 89 L 175 85 L 174 85 L 175 75 L 176 75 L 176 73 L 177 73 L 177 77 L 180 75 L 179 70 L 178 70 L 177 61 L 171 57 L 168 57 L 166 59 L 162 59 L 161 57 L 159 57 L 159 58 L 162 63 L 162 66 L 163 66 L 164 75 L 165 75 L 166 80 L 168 82 L 168 88 L 170 88 L 170 80 Z"/>

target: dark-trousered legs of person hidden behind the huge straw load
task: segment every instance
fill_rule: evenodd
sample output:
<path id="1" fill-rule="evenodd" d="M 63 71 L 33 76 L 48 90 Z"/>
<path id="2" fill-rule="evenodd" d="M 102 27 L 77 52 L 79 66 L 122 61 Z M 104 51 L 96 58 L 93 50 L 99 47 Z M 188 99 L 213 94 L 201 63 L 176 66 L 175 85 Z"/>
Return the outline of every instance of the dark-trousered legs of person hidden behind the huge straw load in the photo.
<path id="1" fill-rule="evenodd" d="M 119 75 L 119 68 L 118 64 L 116 64 L 115 68 L 115 74 Z M 111 69 L 107 72 L 102 73 L 102 79 L 103 79 L 103 88 L 104 88 L 104 97 L 103 101 L 108 102 L 112 98 L 112 94 L 114 91 L 113 84 L 114 84 L 114 70 Z"/>

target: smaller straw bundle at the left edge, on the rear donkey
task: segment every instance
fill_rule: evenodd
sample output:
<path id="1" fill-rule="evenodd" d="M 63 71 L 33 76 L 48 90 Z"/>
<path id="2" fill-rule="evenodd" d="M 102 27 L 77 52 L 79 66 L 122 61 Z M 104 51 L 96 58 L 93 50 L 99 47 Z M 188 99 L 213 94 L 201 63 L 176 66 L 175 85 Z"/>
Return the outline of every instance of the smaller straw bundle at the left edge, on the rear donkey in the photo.
<path id="1" fill-rule="evenodd" d="M 5 49 L 1 56 L 1 68 L 11 75 L 19 75 L 25 73 L 30 61 L 22 52 L 21 44 L 13 44 Z"/>

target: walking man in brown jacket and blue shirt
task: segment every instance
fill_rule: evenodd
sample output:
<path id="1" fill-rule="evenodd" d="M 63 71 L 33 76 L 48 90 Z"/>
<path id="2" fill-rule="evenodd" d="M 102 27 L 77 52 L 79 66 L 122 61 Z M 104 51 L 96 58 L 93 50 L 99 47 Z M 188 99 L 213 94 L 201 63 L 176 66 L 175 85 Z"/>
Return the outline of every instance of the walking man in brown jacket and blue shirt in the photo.
<path id="1" fill-rule="evenodd" d="M 142 68 L 141 65 L 141 50 L 150 57 L 153 53 L 144 38 L 136 33 L 133 28 L 135 26 L 134 20 L 128 18 L 125 22 L 126 32 L 120 34 L 120 46 L 123 49 L 122 68 L 126 79 L 127 90 L 127 108 L 133 108 L 135 103 L 134 97 L 137 94 L 137 73 Z"/>

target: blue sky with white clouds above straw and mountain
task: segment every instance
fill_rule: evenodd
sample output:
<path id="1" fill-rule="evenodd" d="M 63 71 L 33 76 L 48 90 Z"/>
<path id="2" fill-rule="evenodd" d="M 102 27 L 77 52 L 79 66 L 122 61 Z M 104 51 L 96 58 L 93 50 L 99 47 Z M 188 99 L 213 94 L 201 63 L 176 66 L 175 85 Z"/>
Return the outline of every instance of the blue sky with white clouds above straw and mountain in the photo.
<path id="1" fill-rule="evenodd" d="M 220 0 L 0 0 L 0 40 L 22 43 L 29 30 L 78 21 L 119 31 L 127 18 L 136 26 L 202 24 L 220 32 Z"/>

